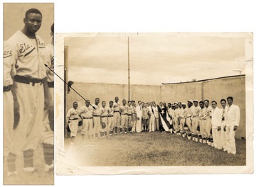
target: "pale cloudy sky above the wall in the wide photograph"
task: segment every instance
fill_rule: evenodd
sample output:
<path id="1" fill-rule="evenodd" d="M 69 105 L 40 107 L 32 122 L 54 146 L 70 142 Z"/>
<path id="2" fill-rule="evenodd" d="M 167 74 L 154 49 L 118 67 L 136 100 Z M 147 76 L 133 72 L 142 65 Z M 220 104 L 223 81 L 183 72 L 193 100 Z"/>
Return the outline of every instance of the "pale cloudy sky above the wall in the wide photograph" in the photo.
<path id="1" fill-rule="evenodd" d="M 58 37 L 58 36 L 57 36 Z M 250 33 L 90 33 L 65 38 L 72 81 L 161 85 L 245 74 Z"/>

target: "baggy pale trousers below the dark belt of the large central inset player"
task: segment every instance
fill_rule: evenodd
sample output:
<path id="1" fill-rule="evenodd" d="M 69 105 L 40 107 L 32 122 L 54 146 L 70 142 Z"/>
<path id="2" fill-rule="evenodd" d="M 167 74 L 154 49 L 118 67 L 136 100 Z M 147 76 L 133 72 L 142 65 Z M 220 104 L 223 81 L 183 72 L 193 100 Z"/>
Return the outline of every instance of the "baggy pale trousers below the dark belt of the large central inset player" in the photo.
<path id="1" fill-rule="evenodd" d="M 19 104 L 20 118 L 18 126 L 13 132 L 15 137 L 10 152 L 35 150 L 41 141 L 43 125 L 44 93 L 43 84 L 23 84 L 14 82 L 15 92 Z"/>

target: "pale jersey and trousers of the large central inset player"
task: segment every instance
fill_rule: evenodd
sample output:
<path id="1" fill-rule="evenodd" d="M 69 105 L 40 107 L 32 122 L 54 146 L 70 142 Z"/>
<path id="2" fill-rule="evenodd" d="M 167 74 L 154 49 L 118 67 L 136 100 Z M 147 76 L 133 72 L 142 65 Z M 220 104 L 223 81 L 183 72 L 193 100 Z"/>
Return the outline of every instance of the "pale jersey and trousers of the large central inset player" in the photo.
<path id="1" fill-rule="evenodd" d="M 46 45 L 36 35 L 30 39 L 17 31 L 8 40 L 11 45 L 12 61 L 15 64 L 14 93 L 19 104 L 20 118 L 14 130 L 14 140 L 10 152 L 34 150 L 43 132 L 44 92 L 43 79 L 46 78 Z"/>

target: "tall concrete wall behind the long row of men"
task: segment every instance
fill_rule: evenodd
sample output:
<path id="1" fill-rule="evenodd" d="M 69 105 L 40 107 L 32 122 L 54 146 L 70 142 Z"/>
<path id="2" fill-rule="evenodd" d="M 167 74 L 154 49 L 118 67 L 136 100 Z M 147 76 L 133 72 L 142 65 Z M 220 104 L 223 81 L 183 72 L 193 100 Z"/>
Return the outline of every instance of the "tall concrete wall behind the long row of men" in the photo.
<path id="1" fill-rule="evenodd" d="M 84 98 L 94 103 L 95 98 L 101 101 L 114 101 L 115 96 L 119 96 L 119 101 L 128 99 L 127 84 L 100 84 L 100 83 L 75 83 L 73 88 Z M 240 107 L 240 127 L 236 132 L 236 137 L 245 137 L 245 77 L 228 77 L 223 79 L 213 79 L 201 82 L 189 82 L 183 84 L 169 84 L 161 86 L 151 85 L 131 85 L 131 99 L 136 102 L 156 101 L 163 102 L 185 102 L 189 99 L 208 99 L 217 101 L 220 106 L 220 99 L 233 96 L 234 104 Z M 73 101 L 78 101 L 78 108 L 85 102 L 71 90 L 68 94 L 68 108 L 73 106 Z"/>

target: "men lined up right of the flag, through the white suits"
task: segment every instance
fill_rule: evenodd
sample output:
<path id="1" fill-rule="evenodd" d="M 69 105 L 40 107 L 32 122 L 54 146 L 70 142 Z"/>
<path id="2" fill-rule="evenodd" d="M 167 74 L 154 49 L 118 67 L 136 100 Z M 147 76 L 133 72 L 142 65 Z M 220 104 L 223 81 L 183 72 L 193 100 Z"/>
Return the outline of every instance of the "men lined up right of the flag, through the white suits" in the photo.
<path id="1" fill-rule="evenodd" d="M 227 105 L 228 102 L 228 105 Z M 202 137 L 210 140 L 216 149 L 223 149 L 229 154 L 236 154 L 235 131 L 240 122 L 240 108 L 233 104 L 233 97 L 228 96 L 220 100 L 221 108 L 217 101 L 189 100 L 186 103 L 168 103 L 170 123 L 174 125 L 174 132 L 192 134 L 193 137 Z"/>

